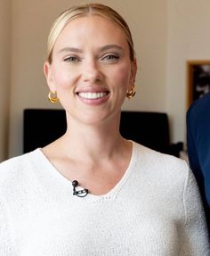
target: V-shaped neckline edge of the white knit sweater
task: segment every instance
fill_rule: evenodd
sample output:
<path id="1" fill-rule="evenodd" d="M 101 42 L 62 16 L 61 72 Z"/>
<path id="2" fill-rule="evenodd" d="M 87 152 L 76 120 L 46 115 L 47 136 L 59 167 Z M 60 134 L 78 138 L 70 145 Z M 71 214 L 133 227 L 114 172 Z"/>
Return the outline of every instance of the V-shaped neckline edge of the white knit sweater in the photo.
<path id="1" fill-rule="evenodd" d="M 128 180 L 128 178 L 130 177 L 131 173 L 133 172 L 136 160 L 137 160 L 137 144 L 135 142 L 132 141 L 132 156 L 130 159 L 130 162 L 128 164 L 127 169 L 125 170 L 125 173 L 123 175 L 123 177 L 117 182 L 116 186 L 114 186 L 113 188 L 111 188 L 109 190 L 109 192 L 107 194 L 87 194 L 87 196 L 83 197 L 83 200 L 88 200 L 88 199 L 92 199 L 93 201 L 101 201 L 101 200 L 106 200 L 106 199 L 110 199 L 112 197 L 115 197 L 117 195 L 117 193 L 125 186 L 126 181 Z M 37 148 L 35 150 L 35 153 L 37 153 L 37 157 L 39 158 L 39 161 L 41 161 L 44 166 L 45 166 L 45 171 L 48 171 L 49 174 L 51 176 L 53 176 L 54 178 L 56 178 L 59 182 L 63 183 L 63 185 L 70 187 L 71 189 L 73 189 L 72 186 L 72 181 L 69 180 L 68 178 L 65 178 L 61 172 L 56 169 L 52 162 L 44 155 L 42 148 Z M 83 187 L 77 186 L 77 189 L 83 189 Z M 73 190 L 72 190 L 73 191 Z"/>

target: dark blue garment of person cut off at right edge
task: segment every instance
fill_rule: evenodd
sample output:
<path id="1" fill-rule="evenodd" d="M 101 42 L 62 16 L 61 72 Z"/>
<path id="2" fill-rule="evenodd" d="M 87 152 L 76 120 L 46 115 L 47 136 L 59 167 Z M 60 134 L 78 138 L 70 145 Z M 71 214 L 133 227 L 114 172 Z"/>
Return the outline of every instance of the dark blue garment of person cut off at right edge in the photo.
<path id="1" fill-rule="evenodd" d="M 192 103 L 187 112 L 187 142 L 210 231 L 210 93 Z"/>

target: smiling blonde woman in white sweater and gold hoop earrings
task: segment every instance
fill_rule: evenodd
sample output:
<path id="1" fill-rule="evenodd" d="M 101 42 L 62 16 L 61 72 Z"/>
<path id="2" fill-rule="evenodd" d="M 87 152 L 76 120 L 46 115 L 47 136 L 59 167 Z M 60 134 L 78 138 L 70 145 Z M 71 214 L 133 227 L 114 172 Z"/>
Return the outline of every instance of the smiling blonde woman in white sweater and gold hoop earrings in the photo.
<path id="1" fill-rule="evenodd" d="M 1 164 L 0 255 L 209 255 L 188 166 L 119 134 L 136 75 L 123 18 L 102 4 L 63 12 L 44 74 L 68 128 Z"/>

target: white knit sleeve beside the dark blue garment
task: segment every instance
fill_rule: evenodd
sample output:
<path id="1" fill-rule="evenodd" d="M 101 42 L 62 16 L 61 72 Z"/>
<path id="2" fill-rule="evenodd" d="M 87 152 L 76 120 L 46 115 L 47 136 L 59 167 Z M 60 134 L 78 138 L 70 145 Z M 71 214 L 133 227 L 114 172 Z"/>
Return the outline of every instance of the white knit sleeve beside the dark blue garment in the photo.
<path id="1" fill-rule="evenodd" d="M 188 167 L 187 167 L 188 168 Z M 188 171 L 183 190 L 183 207 L 185 211 L 185 228 L 182 230 L 182 248 L 180 255 L 209 256 L 209 243 L 206 219 L 200 200 L 197 182 Z M 206 231 L 206 232 L 205 232 Z"/>

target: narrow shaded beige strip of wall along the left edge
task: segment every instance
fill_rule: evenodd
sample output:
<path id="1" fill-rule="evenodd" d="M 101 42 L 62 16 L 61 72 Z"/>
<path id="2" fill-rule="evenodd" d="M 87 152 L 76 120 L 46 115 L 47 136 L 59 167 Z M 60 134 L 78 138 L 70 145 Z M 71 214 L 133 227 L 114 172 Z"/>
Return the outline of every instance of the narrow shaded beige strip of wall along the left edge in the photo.
<path id="1" fill-rule="evenodd" d="M 0 161 L 7 156 L 10 100 L 11 1 L 0 0 Z"/>

